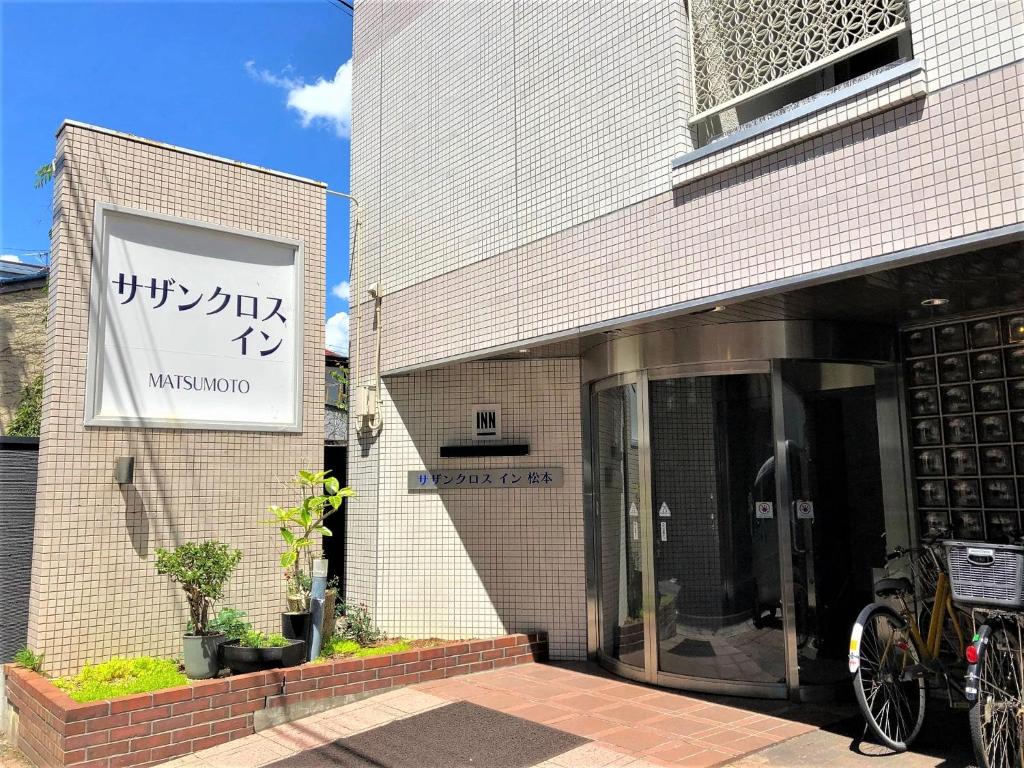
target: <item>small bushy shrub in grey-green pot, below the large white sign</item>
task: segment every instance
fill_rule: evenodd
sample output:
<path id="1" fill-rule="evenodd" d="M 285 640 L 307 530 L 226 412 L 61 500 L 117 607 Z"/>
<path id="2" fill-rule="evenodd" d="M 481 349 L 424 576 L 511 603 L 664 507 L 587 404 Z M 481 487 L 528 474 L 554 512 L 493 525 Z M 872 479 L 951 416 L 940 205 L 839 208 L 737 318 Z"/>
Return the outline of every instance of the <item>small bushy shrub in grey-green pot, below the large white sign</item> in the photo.
<path id="1" fill-rule="evenodd" d="M 194 680 L 216 677 L 222 632 L 209 628 L 210 602 L 220 599 L 231 571 L 242 559 L 239 550 L 216 541 L 186 542 L 157 549 L 157 572 L 181 585 L 188 600 L 188 629 L 183 638 L 185 675 Z"/>

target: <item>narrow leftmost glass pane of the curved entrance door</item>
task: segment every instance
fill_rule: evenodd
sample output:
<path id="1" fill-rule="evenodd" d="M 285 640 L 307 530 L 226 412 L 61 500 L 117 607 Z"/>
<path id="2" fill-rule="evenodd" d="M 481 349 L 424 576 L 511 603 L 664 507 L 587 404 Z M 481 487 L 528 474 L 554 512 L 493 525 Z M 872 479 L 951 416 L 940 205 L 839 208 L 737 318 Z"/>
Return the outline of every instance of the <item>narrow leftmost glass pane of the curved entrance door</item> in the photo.
<path id="1" fill-rule="evenodd" d="M 636 384 L 596 392 L 592 414 L 601 646 L 611 658 L 643 669 L 643 537 Z"/>

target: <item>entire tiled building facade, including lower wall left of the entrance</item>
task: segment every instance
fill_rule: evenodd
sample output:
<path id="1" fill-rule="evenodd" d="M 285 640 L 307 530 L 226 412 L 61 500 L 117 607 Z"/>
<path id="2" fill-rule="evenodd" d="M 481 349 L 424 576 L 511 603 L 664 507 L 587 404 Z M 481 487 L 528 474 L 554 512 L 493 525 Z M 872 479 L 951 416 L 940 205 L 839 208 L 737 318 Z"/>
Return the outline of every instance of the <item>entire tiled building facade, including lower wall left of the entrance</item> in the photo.
<path id="1" fill-rule="evenodd" d="M 543 629 L 586 654 L 586 381 L 579 348 L 535 359 L 556 343 L 1020 238 L 1024 3 L 864 5 L 903 25 L 898 56 L 698 145 L 683 0 L 356 3 L 353 383 L 379 366 L 383 425 L 353 420 L 347 578 L 386 629 Z M 565 486 L 410 493 L 490 398 Z"/>

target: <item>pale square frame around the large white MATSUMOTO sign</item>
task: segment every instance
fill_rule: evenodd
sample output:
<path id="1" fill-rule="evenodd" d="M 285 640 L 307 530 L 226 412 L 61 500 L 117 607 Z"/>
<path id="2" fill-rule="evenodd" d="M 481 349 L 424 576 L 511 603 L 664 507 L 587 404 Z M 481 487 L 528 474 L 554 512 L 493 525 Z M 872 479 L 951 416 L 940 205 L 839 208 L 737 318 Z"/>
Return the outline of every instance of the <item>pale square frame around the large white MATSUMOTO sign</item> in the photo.
<path id="1" fill-rule="evenodd" d="M 294 257 L 292 269 L 294 271 L 295 295 L 293 297 L 295 307 L 295 325 L 292 329 L 293 338 L 293 366 L 294 366 L 294 392 L 295 397 L 292 403 L 292 419 L 290 422 L 261 422 L 261 421 L 220 421 L 220 420 L 195 420 L 195 419 L 159 419 L 144 416 L 97 416 L 99 410 L 99 398 L 102 394 L 101 357 L 103 353 L 105 333 L 106 333 L 106 304 L 103 300 L 103 291 L 106 287 L 109 259 L 103 248 L 106 239 L 106 216 L 108 214 L 122 214 L 137 218 L 151 219 L 164 223 L 176 224 L 183 227 L 191 227 L 206 231 L 229 234 L 249 240 L 263 241 L 275 245 L 293 249 Z M 304 326 L 305 326 L 305 253 L 301 240 L 284 238 L 265 232 L 255 232 L 249 229 L 241 229 L 232 226 L 224 226 L 210 221 L 172 216 L 155 211 L 146 211 L 138 208 L 118 205 L 97 201 L 93 211 L 92 221 L 92 253 L 90 263 L 90 285 L 89 285 L 89 336 L 86 351 L 86 376 L 85 376 L 85 418 L 84 425 L 87 427 L 141 427 L 145 429 L 202 429 L 218 431 L 242 431 L 242 432 L 302 432 L 302 396 L 303 383 L 305 381 L 304 366 Z"/>

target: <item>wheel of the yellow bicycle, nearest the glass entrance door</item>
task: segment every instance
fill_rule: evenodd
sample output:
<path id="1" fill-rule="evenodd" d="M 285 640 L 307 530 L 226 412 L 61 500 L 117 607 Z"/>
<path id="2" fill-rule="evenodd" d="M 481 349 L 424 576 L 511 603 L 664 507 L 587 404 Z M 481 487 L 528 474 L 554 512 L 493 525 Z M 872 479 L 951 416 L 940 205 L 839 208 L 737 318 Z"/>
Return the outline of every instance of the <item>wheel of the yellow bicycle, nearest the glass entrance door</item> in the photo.
<path id="1" fill-rule="evenodd" d="M 874 735 L 905 752 L 925 722 L 927 690 L 921 656 L 906 622 L 885 605 L 861 611 L 850 640 L 851 662 L 859 656 L 853 690 Z"/>

